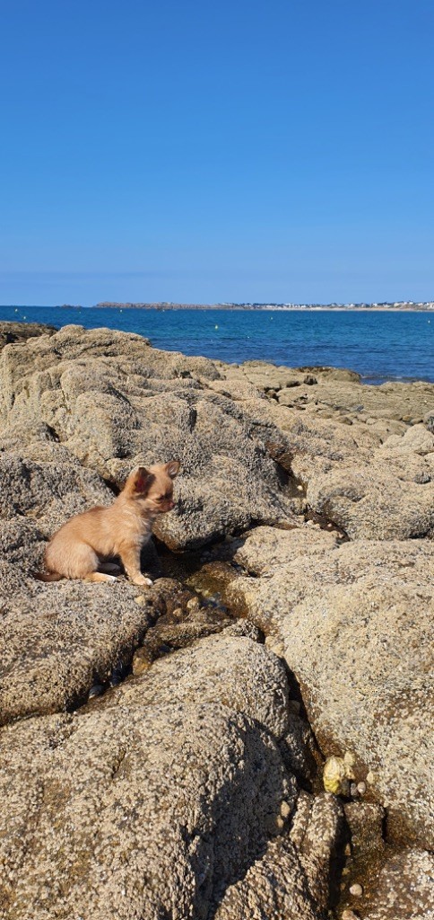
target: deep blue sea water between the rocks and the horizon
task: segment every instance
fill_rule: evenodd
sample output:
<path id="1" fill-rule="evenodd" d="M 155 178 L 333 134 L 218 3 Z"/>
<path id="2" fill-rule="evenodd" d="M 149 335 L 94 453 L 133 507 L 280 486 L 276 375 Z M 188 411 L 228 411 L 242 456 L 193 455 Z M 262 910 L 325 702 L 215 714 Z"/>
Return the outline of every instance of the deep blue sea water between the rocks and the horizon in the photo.
<path id="1" fill-rule="evenodd" d="M 0 319 L 139 332 L 156 348 L 225 362 L 348 367 L 366 383 L 434 382 L 434 312 L 0 306 Z"/>

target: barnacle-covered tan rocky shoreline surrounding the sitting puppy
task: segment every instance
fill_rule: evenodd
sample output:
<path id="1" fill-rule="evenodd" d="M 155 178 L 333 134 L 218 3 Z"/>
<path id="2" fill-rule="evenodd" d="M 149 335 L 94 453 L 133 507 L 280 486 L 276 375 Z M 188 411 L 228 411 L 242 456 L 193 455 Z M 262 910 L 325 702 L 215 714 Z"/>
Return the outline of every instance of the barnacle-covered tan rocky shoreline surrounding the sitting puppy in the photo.
<path id="1" fill-rule="evenodd" d="M 31 326 L 0 324 L 0 917 L 434 916 L 434 385 Z M 174 456 L 149 591 L 35 580 Z"/>

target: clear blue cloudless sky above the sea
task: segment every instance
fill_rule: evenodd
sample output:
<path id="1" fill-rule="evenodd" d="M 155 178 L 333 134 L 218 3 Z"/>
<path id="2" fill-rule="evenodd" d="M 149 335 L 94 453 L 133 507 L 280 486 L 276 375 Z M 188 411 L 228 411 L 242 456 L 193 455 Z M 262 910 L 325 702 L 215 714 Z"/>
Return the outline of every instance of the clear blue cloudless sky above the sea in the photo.
<path id="1" fill-rule="evenodd" d="M 432 0 L 3 0 L 0 303 L 434 298 Z"/>

